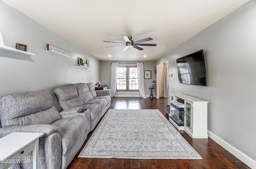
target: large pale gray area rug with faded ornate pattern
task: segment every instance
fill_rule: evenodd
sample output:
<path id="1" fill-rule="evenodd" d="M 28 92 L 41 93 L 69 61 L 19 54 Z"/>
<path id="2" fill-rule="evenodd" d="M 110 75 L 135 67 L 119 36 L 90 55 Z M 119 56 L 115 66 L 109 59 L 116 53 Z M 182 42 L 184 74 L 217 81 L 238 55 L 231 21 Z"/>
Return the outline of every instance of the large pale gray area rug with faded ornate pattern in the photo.
<path id="1" fill-rule="evenodd" d="M 109 109 L 78 157 L 202 159 L 158 109 Z"/>

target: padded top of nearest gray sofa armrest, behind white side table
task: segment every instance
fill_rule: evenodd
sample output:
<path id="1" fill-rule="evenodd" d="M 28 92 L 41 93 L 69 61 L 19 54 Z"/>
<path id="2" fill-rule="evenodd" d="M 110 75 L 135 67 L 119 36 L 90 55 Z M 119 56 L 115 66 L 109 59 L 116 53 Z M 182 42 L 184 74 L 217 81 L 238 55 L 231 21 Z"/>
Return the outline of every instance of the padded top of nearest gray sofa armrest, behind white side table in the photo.
<path id="1" fill-rule="evenodd" d="M 28 133 L 44 133 L 42 137 L 47 137 L 52 133 L 59 133 L 61 130 L 55 125 L 49 124 L 32 124 L 32 125 L 10 125 L 0 128 L 0 137 L 4 137 L 13 132 L 28 132 Z"/>

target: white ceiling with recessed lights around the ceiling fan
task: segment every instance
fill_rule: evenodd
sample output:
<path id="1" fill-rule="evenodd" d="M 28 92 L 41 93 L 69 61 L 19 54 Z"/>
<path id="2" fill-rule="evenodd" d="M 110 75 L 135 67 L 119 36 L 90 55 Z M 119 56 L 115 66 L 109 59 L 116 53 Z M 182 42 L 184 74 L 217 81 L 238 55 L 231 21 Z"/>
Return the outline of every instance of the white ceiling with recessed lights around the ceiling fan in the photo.
<path id="1" fill-rule="evenodd" d="M 2 1 L 99 60 L 154 61 L 249 0 Z M 157 46 L 106 48 L 118 44 L 104 40 L 125 42 L 122 35 Z"/>

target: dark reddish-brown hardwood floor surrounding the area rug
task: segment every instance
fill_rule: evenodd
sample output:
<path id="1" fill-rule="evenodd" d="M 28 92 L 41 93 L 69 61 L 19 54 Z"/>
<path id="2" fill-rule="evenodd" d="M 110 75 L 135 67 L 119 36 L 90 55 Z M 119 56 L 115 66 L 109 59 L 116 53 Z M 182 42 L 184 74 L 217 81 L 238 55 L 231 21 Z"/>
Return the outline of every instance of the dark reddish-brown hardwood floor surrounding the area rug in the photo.
<path id="1" fill-rule="evenodd" d="M 164 98 L 114 97 L 111 99 L 110 109 L 159 109 L 168 119 L 166 105 L 168 99 Z M 80 151 L 92 132 L 88 134 Z M 192 139 L 186 132 L 179 132 L 203 159 L 78 158 L 79 151 L 68 169 L 250 169 L 212 139 Z"/>

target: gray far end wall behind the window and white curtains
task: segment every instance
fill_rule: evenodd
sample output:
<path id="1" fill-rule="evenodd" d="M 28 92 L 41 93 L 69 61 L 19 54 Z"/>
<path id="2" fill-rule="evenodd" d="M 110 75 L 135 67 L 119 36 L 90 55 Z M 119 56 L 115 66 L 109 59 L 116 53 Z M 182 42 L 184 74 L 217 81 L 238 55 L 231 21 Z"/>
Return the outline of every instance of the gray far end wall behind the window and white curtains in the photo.
<path id="1" fill-rule="evenodd" d="M 121 64 L 122 66 L 134 66 L 136 65 L 136 62 L 134 61 L 101 61 L 101 76 L 100 76 L 100 82 L 101 84 L 107 84 L 108 89 L 110 89 L 111 84 L 111 63 L 116 62 L 118 64 Z M 137 61 L 137 62 L 143 62 L 144 63 L 144 70 L 151 70 L 151 79 L 144 79 L 144 87 L 145 87 L 145 93 L 146 95 L 151 94 L 151 89 L 148 89 L 150 84 L 152 84 L 152 81 L 155 80 L 155 74 L 154 74 L 154 61 Z M 126 63 L 134 63 L 134 64 L 126 64 Z M 154 94 L 154 90 L 153 90 Z M 128 96 L 128 97 L 140 97 L 140 93 L 138 91 L 129 91 L 129 94 L 127 94 L 127 91 L 117 91 L 117 96 Z"/>

